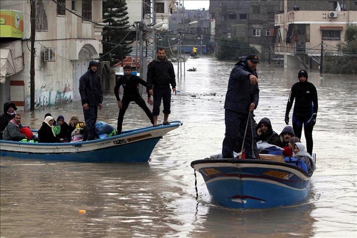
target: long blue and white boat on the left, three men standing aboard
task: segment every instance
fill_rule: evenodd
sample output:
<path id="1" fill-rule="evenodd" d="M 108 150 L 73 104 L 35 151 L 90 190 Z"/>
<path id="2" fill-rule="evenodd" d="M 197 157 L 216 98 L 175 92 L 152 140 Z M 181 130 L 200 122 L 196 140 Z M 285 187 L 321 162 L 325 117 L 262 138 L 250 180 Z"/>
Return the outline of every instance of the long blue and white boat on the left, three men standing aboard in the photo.
<path id="1" fill-rule="evenodd" d="M 0 141 L 0 155 L 20 159 L 73 162 L 147 162 L 159 140 L 182 125 L 144 127 L 123 131 L 121 135 L 86 142 L 28 143 Z"/>

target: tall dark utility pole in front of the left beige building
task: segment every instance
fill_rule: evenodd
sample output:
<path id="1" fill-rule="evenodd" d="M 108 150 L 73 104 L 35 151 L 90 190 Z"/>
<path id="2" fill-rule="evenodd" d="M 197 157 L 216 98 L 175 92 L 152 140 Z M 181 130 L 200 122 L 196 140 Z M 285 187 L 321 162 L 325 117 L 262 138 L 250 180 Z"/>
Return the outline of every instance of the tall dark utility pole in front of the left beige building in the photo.
<path id="1" fill-rule="evenodd" d="M 31 6 L 31 60 L 30 60 L 30 110 L 35 110 L 35 37 L 36 37 L 36 1 Z"/>

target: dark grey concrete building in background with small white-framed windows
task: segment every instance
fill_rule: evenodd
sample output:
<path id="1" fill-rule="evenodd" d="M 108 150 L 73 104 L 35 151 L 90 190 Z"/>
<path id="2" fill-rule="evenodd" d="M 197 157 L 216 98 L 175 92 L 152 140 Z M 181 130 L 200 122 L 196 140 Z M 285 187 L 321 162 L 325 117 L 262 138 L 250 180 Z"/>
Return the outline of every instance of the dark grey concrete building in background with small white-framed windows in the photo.
<path id="1" fill-rule="evenodd" d="M 262 60 L 268 60 L 273 46 L 274 14 L 280 8 L 281 1 L 210 0 L 214 39 L 238 37 L 256 48 Z"/>

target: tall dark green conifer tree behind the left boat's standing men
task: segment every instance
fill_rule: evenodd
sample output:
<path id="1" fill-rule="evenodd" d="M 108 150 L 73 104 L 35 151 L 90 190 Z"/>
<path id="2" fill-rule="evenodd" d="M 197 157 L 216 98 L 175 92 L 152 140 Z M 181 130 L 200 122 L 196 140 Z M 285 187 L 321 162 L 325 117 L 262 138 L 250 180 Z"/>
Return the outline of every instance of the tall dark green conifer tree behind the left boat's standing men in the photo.
<path id="1" fill-rule="evenodd" d="M 127 9 L 125 0 L 103 0 L 103 23 L 108 23 L 109 26 L 128 25 Z M 132 43 L 132 34 L 127 31 L 128 27 L 111 28 L 105 26 L 103 29 L 103 41 L 109 43 L 103 42 L 102 55 L 104 56 L 102 59 L 110 61 L 111 66 L 124 59 L 131 52 L 129 44 Z M 129 35 L 126 36 L 128 33 Z M 122 41 L 124 37 L 125 40 Z M 121 42 L 120 45 L 117 45 L 119 42 Z"/>

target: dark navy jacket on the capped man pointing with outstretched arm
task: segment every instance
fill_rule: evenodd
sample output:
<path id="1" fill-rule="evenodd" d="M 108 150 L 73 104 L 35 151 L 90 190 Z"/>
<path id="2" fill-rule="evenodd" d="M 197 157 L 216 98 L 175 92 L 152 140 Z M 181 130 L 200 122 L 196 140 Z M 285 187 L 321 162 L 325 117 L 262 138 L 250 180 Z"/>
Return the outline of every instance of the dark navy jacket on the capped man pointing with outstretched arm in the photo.
<path id="1" fill-rule="evenodd" d="M 253 74 L 258 78 L 257 71 L 252 71 L 248 67 L 246 59 L 238 61 L 229 75 L 228 89 L 224 102 L 224 109 L 238 113 L 249 113 L 249 107 L 252 102 L 255 108 L 259 102 L 259 86 L 250 83 L 249 75 Z"/>

